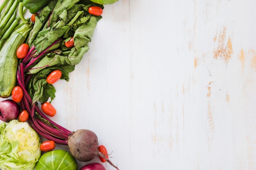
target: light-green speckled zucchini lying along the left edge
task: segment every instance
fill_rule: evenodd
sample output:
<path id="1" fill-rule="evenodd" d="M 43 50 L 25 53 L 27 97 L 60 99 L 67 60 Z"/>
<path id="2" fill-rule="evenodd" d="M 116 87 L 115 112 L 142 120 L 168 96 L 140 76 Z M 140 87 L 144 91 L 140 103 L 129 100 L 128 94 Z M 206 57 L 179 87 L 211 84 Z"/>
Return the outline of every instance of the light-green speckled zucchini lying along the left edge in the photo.
<path id="1" fill-rule="evenodd" d="M 11 36 L 0 50 L 0 97 L 8 98 L 16 85 L 18 58 L 16 51 L 26 40 L 30 30 L 33 28 L 32 22 L 22 25 L 13 31 Z"/>

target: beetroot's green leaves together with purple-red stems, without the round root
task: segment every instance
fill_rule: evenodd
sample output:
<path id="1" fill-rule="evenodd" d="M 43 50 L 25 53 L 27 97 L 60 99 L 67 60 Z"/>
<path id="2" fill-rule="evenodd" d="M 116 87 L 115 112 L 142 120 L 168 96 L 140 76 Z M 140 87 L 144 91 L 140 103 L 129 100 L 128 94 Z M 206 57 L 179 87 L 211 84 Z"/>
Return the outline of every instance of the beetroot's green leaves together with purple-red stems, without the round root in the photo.
<path id="1" fill-rule="evenodd" d="M 18 85 L 24 96 L 20 102 L 29 113 L 27 120 L 41 136 L 67 145 L 73 133 L 50 120 L 38 107 L 49 98 L 55 98 L 55 88 L 46 78 L 52 70 L 61 70 L 61 79 L 69 80 L 69 73 L 75 68 L 85 52 L 102 18 L 88 12 L 91 6 L 103 5 L 90 0 L 52 0 L 35 18 L 27 43 L 29 52 L 20 60 L 17 71 Z M 65 42 L 74 39 L 74 46 L 67 48 Z"/>

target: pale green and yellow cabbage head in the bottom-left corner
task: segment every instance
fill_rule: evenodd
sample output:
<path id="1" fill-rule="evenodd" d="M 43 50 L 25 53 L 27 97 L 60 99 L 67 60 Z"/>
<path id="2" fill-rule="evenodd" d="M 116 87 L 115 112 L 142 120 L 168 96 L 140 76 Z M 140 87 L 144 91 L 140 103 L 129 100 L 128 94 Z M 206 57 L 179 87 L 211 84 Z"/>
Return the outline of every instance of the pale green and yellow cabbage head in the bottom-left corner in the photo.
<path id="1" fill-rule="evenodd" d="M 27 122 L 0 123 L 0 168 L 34 170 L 40 155 L 40 138 Z"/>

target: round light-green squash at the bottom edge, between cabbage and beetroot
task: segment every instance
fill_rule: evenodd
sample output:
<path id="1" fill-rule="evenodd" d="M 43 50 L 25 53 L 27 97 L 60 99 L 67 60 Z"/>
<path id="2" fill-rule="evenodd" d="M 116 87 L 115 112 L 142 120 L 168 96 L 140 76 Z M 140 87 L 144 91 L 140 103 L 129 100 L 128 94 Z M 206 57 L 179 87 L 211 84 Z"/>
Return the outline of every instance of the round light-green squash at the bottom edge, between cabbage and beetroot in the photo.
<path id="1" fill-rule="evenodd" d="M 67 151 L 57 149 L 43 154 L 35 170 L 77 170 L 76 159 Z"/>

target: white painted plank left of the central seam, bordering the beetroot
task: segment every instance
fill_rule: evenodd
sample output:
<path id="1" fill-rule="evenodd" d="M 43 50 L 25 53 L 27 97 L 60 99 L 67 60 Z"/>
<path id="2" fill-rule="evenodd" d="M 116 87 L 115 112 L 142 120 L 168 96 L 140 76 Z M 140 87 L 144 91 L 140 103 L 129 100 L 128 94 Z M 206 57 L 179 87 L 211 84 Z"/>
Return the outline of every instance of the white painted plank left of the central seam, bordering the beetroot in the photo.
<path id="1" fill-rule="evenodd" d="M 94 131 L 110 160 L 130 169 L 129 1 L 105 5 L 102 16 L 90 50 L 65 83 L 65 126 Z"/>

